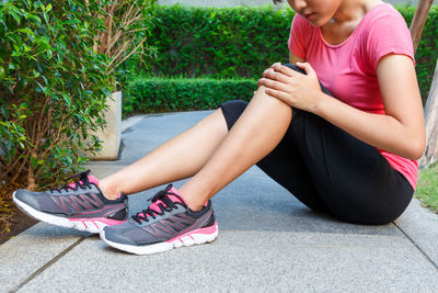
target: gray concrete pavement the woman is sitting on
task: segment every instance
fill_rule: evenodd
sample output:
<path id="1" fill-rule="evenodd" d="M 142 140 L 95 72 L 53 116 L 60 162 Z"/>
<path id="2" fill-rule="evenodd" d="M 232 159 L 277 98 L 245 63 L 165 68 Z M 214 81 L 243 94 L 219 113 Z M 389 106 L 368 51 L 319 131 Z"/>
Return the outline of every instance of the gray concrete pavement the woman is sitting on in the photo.
<path id="1" fill-rule="evenodd" d="M 90 168 L 100 178 L 113 173 L 209 113 L 129 120 L 119 160 L 95 161 Z M 132 194 L 130 212 L 143 210 L 161 188 Z M 97 236 L 39 223 L 0 246 L 0 292 L 438 289 L 438 215 L 417 200 L 390 225 L 341 223 L 310 211 L 254 167 L 212 202 L 216 241 L 152 256 L 131 256 Z"/>

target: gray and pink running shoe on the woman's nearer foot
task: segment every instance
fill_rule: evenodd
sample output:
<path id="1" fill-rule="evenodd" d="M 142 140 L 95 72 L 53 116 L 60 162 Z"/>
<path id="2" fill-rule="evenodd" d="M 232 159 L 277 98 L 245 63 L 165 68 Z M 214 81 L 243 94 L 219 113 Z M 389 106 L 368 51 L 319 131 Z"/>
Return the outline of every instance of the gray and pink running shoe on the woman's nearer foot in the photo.
<path id="1" fill-rule="evenodd" d="M 101 238 L 110 246 L 136 255 L 150 255 L 182 246 L 211 243 L 218 225 L 211 202 L 192 211 L 171 184 L 158 192 L 147 210 L 124 224 L 105 227 Z"/>

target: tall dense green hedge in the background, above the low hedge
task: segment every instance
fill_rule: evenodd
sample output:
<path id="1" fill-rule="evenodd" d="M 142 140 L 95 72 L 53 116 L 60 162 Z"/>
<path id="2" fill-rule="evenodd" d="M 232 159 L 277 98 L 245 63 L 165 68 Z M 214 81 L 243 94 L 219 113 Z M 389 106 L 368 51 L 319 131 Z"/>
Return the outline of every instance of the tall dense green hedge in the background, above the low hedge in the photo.
<path id="1" fill-rule="evenodd" d="M 396 7 L 410 24 L 414 7 Z M 147 64 L 161 77 L 260 78 L 275 61 L 288 60 L 287 40 L 295 15 L 289 8 L 158 7 L 149 43 L 157 58 Z M 438 10 L 434 5 L 423 32 L 416 59 L 423 97 L 427 97 L 438 56 Z M 139 71 L 132 58 L 128 67 Z"/>

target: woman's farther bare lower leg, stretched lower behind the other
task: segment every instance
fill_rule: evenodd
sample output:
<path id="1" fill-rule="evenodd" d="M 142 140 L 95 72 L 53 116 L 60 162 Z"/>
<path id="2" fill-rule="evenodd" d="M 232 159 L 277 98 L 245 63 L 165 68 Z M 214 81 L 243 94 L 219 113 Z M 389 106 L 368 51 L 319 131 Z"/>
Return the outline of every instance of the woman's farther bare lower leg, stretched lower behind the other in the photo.
<path id="1" fill-rule="evenodd" d="M 217 110 L 186 132 L 123 170 L 101 180 L 99 187 L 108 199 L 136 193 L 194 176 L 227 136 L 222 110 Z"/>

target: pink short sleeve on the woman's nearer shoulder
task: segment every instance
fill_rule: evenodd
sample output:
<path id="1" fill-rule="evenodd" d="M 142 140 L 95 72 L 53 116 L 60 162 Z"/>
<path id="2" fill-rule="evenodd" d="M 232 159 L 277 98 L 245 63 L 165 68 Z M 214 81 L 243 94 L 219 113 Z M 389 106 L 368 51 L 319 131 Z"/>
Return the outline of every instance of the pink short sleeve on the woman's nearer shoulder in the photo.
<path id="1" fill-rule="evenodd" d="M 367 53 L 374 70 L 388 54 L 406 55 L 415 65 L 411 33 L 399 11 L 392 8 L 373 20 L 368 33 Z"/>

